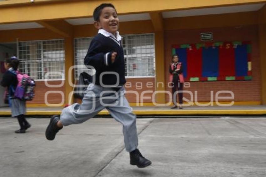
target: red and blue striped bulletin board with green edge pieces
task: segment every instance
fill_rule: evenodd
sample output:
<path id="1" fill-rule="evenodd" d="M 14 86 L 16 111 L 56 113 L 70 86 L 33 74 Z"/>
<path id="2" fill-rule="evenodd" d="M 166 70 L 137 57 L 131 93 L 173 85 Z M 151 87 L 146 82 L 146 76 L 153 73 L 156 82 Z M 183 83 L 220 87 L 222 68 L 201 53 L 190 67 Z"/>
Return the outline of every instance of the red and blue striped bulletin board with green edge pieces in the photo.
<path id="1" fill-rule="evenodd" d="M 172 45 L 186 81 L 251 80 L 251 42 Z"/>

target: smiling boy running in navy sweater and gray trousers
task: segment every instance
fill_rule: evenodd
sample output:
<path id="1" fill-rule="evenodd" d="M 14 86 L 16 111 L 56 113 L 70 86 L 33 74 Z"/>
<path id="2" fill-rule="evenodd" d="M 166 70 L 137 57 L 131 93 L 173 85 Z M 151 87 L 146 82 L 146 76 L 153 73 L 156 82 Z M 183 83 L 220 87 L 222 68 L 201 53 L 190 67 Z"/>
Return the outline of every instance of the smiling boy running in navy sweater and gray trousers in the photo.
<path id="1" fill-rule="evenodd" d="M 124 95 L 125 63 L 117 12 L 112 4 L 101 4 L 95 8 L 93 18 L 99 32 L 90 43 L 84 64 L 95 68 L 95 82 L 88 86 L 80 105 L 72 104 L 62 110 L 60 117 L 52 116 L 45 132 L 46 138 L 53 140 L 63 126 L 83 123 L 106 108 L 115 120 L 123 124 L 130 164 L 147 167 L 151 161 L 137 149 L 136 115 Z"/>

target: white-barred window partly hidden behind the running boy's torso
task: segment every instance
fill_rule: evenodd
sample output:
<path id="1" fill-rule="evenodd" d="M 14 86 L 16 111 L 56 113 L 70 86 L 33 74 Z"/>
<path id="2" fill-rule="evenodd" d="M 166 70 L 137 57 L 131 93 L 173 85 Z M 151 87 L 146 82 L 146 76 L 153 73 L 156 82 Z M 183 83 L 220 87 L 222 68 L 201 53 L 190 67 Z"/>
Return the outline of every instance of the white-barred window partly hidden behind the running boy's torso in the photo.
<path id="1" fill-rule="evenodd" d="M 154 34 L 123 35 L 122 45 L 125 58 L 125 76 L 129 77 L 154 77 L 155 76 L 155 48 Z M 94 74 L 95 70 L 84 66 L 90 42 L 93 38 L 75 39 L 75 78 L 81 72 Z"/>

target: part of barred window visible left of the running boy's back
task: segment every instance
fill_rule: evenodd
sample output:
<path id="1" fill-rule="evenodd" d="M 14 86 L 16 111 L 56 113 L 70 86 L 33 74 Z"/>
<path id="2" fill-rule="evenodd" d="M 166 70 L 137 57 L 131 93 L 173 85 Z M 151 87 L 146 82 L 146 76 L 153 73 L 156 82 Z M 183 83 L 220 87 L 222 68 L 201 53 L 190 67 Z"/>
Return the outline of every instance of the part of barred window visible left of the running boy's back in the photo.
<path id="1" fill-rule="evenodd" d="M 90 75 L 95 73 L 95 70 L 88 69 L 84 65 L 84 58 L 87 54 L 90 42 L 93 38 L 75 38 L 75 78 L 79 78 L 79 74 L 86 72 Z"/>

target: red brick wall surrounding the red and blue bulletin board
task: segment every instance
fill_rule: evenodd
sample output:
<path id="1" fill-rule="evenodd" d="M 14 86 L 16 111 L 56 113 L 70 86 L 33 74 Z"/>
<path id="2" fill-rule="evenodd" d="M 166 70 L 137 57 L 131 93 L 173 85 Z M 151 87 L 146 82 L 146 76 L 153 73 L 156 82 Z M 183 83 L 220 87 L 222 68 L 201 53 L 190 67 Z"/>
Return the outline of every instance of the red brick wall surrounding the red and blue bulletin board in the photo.
<path id="1" fill-rule="evenodd" d="M 192 30 L 165 31 L 165 79 L 169 80 L 169 63 L 171 63 L 172 44 L 200 43 L 200 33 L 212 32 L 213 42 L 225 41 L 251 41 L 252 43 L 252 77 L 251 81 L 213 81 L 213 82 L 190 82 L 190 90 L 198 91 L 198 101 L 210 101 L 210 91 L 215 93 L 219 90 L 231 90 L 235 95 L 235 101 L 261 101 L 261 77 L 258 44 L 258 26 L 224 27 Z M 166 84 L 167 87 L 167 84 Z M 170 88 L 166 90 L 171 91 Z M 189 96 L 184 95 L 187 98 Z M 227 96 L 227 95 L 219 95 Z M 228 95 L 229 96 L 229 95 Z M 166 94 L 166 100 L 169 100 Z"/>

